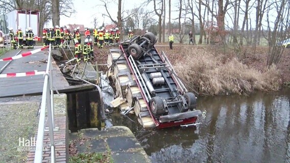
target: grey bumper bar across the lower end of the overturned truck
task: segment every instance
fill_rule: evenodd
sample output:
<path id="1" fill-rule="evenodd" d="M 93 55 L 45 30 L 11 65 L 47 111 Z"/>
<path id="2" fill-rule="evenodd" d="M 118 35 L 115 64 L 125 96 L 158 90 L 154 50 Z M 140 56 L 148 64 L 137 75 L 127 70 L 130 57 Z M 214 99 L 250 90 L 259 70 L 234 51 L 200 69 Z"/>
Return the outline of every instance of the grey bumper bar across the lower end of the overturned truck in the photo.
<path id="1" fill-rule="evenodd" d="M 184 112 L 184 113 L 177 113 L 173 115 L 166 115 L 166 116 L 160 116 L 160 123 L 164 122 L 170 122 L 170 121 L 176 121 L 176 120 L 183 120 L 187 118 L 197 117 L 200 116 L 202 113 L 200 110 L 197 111 L 190 111 L 190 112 Z"/>

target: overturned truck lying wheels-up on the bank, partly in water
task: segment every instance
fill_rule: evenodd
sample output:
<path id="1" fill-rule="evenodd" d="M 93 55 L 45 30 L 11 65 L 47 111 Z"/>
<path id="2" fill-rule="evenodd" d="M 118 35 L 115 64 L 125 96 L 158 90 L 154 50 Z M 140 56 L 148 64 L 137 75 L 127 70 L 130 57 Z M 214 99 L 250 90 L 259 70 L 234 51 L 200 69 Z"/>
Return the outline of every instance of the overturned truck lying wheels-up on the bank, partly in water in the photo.
<path id="1" fill-rule="evenodd" d="M 155 49 L 156 42 L 149 32 L 110 49 L 108 66 L 116 96 L 126 99 L 120 108 L 133 108 L 145 128 L 196 125 L 201 115 L 196 96 L 187 91 L 165 53 Z"/>

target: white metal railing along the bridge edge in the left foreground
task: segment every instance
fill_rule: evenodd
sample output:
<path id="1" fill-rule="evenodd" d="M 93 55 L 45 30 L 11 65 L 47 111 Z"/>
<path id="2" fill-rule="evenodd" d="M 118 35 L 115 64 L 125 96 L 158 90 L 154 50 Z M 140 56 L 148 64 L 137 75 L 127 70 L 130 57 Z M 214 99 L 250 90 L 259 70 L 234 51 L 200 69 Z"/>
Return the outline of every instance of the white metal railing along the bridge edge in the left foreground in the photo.
<path id="1" fill-rule="evenodd" d="M 54 90 L 53 90 L 53 69 L 52 69 L 52 45 L 49 48 L 49 57 L 47 60 L 46 71 L 43 74 L 44 84 L 42 90 L 41 108 L 37 131 L 37 140 L 35 148 L 34 162 L 42 162 L 43 152 L 43 137 L 45 129 L 45 109 L 47 108 L 47 121 L 49 122 L 49 135 L 50 135 L 50 149 L 51 149 L 51 162 L 56 162 L 55 143 L 54 143 Z"/>

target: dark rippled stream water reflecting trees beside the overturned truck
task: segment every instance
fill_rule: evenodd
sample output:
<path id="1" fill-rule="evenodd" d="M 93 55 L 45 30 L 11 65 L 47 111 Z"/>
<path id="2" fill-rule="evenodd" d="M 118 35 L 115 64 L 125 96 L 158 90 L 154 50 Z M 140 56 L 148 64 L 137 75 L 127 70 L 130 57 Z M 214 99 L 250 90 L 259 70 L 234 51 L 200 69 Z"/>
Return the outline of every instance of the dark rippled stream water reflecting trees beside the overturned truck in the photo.
<path id="1" fill-rule="evenodd" d="M 290 162 L 289 101 L 290 89 L 200 97 L 197 127 L 145 130 L 118 113 L 111 119 L 132 130 L 152 162 Z"/>

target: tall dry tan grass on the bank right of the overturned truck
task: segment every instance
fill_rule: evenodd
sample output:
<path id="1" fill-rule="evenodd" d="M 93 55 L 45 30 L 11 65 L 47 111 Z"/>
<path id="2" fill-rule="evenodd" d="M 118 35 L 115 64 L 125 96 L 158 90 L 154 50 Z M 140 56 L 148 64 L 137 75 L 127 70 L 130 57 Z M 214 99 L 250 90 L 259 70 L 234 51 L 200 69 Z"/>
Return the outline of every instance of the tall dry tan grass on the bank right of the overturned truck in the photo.
<path id="1" fill-rule="evenodd" d="M 276 66 L 250 67 L 238 61 L 234 53 L 227 49 L 211 46 L 158 47 L 164 50 L 173 62 L 178 76 L 202 95 L 227 93 L 247 94 L 255 90 L 278 90 L 282 85 L 281 73 Z"/>

